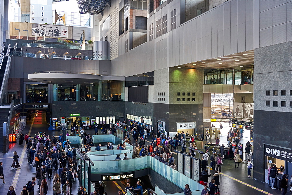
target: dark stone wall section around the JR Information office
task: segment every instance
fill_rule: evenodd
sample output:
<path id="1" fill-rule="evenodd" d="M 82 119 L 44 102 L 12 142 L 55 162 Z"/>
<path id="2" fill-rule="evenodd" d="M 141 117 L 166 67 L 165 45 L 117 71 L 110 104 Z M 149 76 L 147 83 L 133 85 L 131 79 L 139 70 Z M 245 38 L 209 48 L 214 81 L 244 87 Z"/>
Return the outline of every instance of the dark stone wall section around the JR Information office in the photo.
<path id="1" fill-rule="evenodd" d="M 264 181 L 264 144 L 292 148 L 292 113 L 254 110 L 254 116 L 253 178 Z"/>

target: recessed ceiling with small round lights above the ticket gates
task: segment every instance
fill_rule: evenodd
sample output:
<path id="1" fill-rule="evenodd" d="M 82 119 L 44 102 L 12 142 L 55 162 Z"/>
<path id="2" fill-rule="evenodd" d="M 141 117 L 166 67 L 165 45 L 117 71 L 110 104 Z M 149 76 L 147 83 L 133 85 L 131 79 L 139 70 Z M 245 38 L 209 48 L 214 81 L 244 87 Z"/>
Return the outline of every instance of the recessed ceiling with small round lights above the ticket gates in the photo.
<path id="1" fill-rule="evenodd" d="M 203 68 L 203 69 L 222 69 L 222 68 L 251 68 L 254 63 L 254 51 L 245 51 L 218 58 L 192 62 L 179 65 L 181 68 Z"/>

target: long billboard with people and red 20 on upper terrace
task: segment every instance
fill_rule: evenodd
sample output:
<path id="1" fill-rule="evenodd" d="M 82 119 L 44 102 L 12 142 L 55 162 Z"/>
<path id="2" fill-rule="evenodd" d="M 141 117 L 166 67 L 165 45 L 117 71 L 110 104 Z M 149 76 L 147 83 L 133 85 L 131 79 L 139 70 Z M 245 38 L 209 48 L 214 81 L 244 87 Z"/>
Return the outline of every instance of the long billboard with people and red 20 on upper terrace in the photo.
<path id="1" fill-rule="evenodd" d="M 68 27 L 59 25 L 32 24 L 32 36 L 68 38 Z"/>

